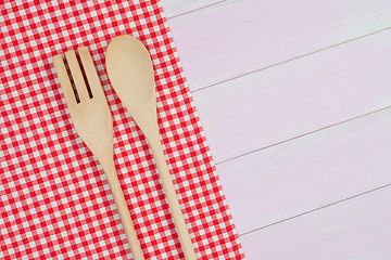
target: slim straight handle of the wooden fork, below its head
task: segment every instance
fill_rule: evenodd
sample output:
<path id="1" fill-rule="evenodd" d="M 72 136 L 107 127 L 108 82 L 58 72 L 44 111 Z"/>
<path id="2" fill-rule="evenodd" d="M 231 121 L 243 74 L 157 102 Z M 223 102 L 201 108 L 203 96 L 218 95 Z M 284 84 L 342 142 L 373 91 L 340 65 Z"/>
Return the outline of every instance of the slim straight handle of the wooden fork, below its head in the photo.
<path id="1" fill-rule="evenodd" d="M 125 230 L 126 238 L 130 246 L 131 255 L 134 256 L 135 260 L 144 260 L 140 244 L 137 238 L 136 230 L 130 218 L 129 209 L 127 207 L 124 193 L 121 188 L 114 164 L 110 167 L 103 167 L 103 169 L 108 178 L 108 182 L 112 191 L 122 224 Z"/>

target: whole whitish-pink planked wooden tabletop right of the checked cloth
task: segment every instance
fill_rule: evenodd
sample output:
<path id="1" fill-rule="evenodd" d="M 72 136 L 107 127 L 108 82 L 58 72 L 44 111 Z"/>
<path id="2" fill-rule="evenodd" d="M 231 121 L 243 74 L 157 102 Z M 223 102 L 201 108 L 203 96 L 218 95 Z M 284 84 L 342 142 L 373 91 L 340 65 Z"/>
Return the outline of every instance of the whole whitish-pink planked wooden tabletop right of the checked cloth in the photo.
<path id="1" fill-rule="evenodd" d="M 163 0 L 248 259 L 391 259 L 391 0 Z"/>

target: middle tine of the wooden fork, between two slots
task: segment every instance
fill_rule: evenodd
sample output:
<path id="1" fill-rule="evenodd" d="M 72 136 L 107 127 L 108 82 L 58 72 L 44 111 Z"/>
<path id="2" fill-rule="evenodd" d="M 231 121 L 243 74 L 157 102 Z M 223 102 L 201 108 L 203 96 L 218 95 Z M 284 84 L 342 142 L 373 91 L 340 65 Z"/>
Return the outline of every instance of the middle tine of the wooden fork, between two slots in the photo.
<path id="1" fill-rule="evenodd" d="M 74 79 L 77 93 L 80 98 L 80 102 L 89 100 L 88 90 L 86 82 L 83 77 L 80 65 L 77 61 L 76 53 L 74 50 L 65 52 L 65 57 L 70 66 L 72 78 Z"/>

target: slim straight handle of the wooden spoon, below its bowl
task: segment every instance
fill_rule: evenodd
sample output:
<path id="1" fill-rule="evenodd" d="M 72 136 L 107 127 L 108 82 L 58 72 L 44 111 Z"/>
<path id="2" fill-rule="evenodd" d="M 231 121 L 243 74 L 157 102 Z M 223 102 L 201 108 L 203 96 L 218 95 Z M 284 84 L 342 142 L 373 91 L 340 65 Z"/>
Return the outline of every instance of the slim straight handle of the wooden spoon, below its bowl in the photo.
<path id="1" fill-rule="evenodd" d="M 159 134 L 149 138 L 148 141 L 152 148 L 153 157 L 157 165 L 159 174 L 163 184 L 163 190 L 167 198 L 167 203 L 174 219 L 174 224 L 177 230 L 181 248 L 185 253 L 186 260 L 195 260 L 195 252 L 191 244 L 190 235 L 186 226 L 184 214 L 180 210 L 178 197 L 175 193 L 173 180 L 168 172 L 165 156 L 163 153 L 162 144 L 160 142 Z"/>

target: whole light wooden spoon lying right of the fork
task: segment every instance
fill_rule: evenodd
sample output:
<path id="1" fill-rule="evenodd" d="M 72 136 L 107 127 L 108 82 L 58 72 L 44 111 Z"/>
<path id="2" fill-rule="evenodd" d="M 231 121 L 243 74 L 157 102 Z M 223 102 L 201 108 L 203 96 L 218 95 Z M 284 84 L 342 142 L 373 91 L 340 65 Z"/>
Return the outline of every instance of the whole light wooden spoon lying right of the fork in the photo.
<path id="1" fill-rule="evenodd" d="M 115 92 L 152 148 L 185 257 L 187 260 L 194 260 L 194 249 L 160 142 L 154 73 L 148 50 L 134 37 L 118 36 L 108 47 L 105 63 Z"/>

